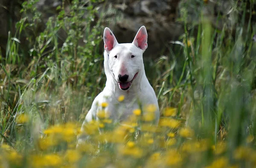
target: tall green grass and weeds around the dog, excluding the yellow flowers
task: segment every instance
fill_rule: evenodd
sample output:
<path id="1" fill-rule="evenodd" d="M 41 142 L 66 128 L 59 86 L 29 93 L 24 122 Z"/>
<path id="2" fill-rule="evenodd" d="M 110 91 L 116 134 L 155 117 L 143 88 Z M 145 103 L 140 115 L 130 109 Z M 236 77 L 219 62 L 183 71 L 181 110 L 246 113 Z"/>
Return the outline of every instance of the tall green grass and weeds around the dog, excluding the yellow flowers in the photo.
<path id="1" fill-rule="evenodd" d="M 6 57 L 0 56 L 0 145 L 8 144 L 25 157 L 30 153 L 44 153 L 38 149 L 38 139 L 44 137 L 44 130 L 49 126 L 81 123 L 105 84 L 103 56 L 99 49 L 107 9 L 98 13 L 94 1 L 73 0 L 70 4 L 63 1 L 63 6 L 57 8 L 58 15 L 50 17 L 44 25 L 35 8 L 36 2 L 23 3 L 16 32 L 9 33 Z M 245 155 L 241 160 L 234 157 L 234 153 L 243 154 L 237 151 L 240 146 L 248 147 L 245 153 L 256 154 L 256 42 L 252 40 L 256 34 L 256 25 L 252 22 L 255 1 L 230 0 L 230 4 L 230 13 L 225 15 L 219 11 L 216 22 L 212 23 L 211 16 L 203 13 L 207 1 L 182 2 L 179 20 L 184 25 L 184 34 L 179 42 L 168 44 L 168 55 L 145 60 L 146 74 L 161 112 L 166 107 L 177 108 L 174 118 L 183 123 L 183 127 L 171 131 L 178 134 L 184 128 L 191 128 L 195 132 L 188 138 L 177 136 L 173 149 L 182 151 L 182 146 L 191 139 L 209 140 L 215 150 L 224 148 L 218 144 L 227 144 L 220 155 L 210 150 L 203 156 L 195 154 L 194 157 L 201 160 L 196 160 L 193 154 L 186 155 L 188 160 L 179 163 L 180 167 L 210 164 L 214 167 L 215 159 L 221 167 L 222 157 L 231 165 L 255 166 L 255 162 L 247 162 Z M 65 11 L 66 5 L 69 5 L 69 12 Z M 189 22 L 191 8 L 198 10 L 196 23 Z M 96 18 L 96 14 L 100 17 Z M 215 26 L 228 18 L 241 19 L 233 19 L 231 25 L 224 22 L 221 28 Z M 44 26 L 43 31 L 38 31 L 40 26 Z M 20 42 L 22 38 L 26 39 L 26 46 Z M 19 121 L 23 115 L 26 122 Z M 150 154 L 168 151 L 168 148 L 151 147 L 148 155 L 134 165 L 148 167 L 145 161 Z M 59 153 L 62 149 L 66 151 L 67 146 L 61 144 L 49 150 Z M 4 150 L 0 153 L 5 154 Z M 98 155 L 93 155 L 90 161 L 102 159 L 108 151 L 112 152 L 115 162 L 118 157 L 114 150 L 113 144 L 108 144 L 95 152 Z M 134 161 L 122 159 L 123 162 Z M 25 159 L 16 166 L 24 165 L 27 166 Z"/>

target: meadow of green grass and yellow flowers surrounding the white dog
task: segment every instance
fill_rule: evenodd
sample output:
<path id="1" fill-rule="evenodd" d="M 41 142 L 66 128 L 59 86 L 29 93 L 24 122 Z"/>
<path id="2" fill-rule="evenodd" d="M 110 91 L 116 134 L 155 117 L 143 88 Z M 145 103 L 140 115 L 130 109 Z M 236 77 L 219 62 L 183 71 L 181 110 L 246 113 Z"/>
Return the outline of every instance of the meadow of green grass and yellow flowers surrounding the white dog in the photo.
<path id="1" fill-rule="evenodd" d="M 256 167 L 256 1 L 229 1 L 228 14 L 216 14 L 221 27 L 204 15 L 208 0 L 184 1 L 184 34 L 166 44 L 169 54 L 144 59 L 160 106 L 157 127 L 149 105 L 123 123 L 99 114 L 84 132 L 106 80 L 104 11 L 95 23 L 96 0 L 73 0 L 38 33 L 37 1 L 25 1 L 0 53 L 0 168 Z M 197 22 L 188 22 L 195 17 L 188 8 Z M 87 141 L 76 148 L 78 135 Z"/>

